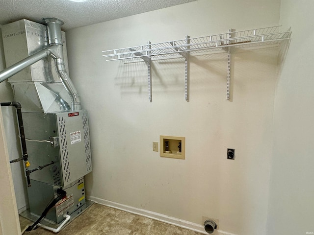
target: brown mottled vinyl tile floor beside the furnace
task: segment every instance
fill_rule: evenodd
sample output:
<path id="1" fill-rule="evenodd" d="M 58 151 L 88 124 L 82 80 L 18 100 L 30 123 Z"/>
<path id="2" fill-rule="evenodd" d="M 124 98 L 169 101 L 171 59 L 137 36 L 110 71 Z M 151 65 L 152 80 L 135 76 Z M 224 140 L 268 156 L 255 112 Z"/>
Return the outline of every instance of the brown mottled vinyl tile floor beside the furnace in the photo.
<path id="1" fill-rule="evenodd" d="M 21 230 L 32 222 L 20 216 Z M 24 235 L 53 235 L 37 228 Z M 57 235 L 202 235 L 200 233 L 166 224 L 94 203 L 71 221 Z"/>

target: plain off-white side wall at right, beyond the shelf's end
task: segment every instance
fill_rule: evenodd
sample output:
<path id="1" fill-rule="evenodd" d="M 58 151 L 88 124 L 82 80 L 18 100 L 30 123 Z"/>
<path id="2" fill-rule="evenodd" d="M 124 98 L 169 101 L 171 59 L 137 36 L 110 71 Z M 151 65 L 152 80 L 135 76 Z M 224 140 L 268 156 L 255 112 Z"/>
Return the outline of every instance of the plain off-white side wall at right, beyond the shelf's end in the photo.
<path id="1" fill-rule="evenodd" d="M 312 0 L 281 2 L 292 36 L 275 96 L 269 235 L 314 233 L 313 12 Z"/>

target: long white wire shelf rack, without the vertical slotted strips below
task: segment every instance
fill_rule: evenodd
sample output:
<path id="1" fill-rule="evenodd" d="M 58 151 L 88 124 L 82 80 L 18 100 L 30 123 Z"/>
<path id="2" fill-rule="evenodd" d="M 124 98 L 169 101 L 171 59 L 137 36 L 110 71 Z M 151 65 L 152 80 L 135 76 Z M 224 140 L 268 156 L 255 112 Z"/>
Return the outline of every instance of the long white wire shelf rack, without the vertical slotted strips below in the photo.
<path id="1" fill-rule="evenodd" d="M 224 52 L 228 47 L 260 47 L 278 45 L 289 40 L 291 31 L 280 32 L 280 26 L 228 32 L 198 38 L 186 38 L 136 47 L 104 50 L 103 56 L 112 60 L 134 60 L 160 56 L 177 56 L 184 53 Z"/>

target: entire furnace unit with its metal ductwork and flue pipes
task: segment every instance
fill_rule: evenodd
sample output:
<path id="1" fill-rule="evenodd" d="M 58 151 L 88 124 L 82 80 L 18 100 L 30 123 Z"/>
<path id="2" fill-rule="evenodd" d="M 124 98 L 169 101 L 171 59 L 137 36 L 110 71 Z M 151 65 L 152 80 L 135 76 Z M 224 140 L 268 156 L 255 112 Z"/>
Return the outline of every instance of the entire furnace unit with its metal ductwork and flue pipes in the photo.
<path id="1" fill-rule="evenodd" d="M 63 225 L 67 216 L 73 219 L 87 207 L 83 177 L 92 171 L 89 124 L 67 72 L 63 22 L 43 21 L 47 26 L 24 19 L 1 27 L 7 69 L 0 72 L 0 82 L 8 79 L 23 114 L 25 135 L 20 131 L 20 137 L 26 146 L 23 158 L 13 161 L 25 161 L 29 210 L 22 216 L 36 222 L 44 216 Z M 58 190 L 66 197 L 48 211 Z"/>

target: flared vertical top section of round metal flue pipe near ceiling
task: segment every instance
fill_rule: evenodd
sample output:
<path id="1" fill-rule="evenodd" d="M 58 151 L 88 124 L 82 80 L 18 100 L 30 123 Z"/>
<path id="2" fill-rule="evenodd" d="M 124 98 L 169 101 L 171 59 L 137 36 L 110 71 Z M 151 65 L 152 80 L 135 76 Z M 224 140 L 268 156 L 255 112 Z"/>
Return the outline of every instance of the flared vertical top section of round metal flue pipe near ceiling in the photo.
<path id="1" fill-rule="evenodd" d="M 61 25 L 64 22 L 59 18 L 46 17 L 43 18 L 43 21 L 47 24 L 49 45 L 63 45 L 62 44 L 62 35 L 61 35 Z"/>

